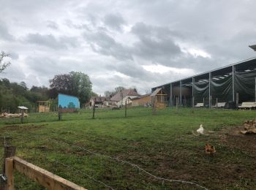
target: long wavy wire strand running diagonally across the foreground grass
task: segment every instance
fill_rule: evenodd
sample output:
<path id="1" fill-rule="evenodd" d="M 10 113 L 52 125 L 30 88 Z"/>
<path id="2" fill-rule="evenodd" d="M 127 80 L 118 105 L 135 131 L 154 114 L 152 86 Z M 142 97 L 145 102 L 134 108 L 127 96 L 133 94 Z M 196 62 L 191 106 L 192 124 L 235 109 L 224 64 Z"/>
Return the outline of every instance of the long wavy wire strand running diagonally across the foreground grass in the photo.
<path id="1" fill-rule="evenodd" d="M 40 135 L 40 134 L 39 134 L 39 135 L 38 135 L 38 134 L 31 134 L 31 135 L 33 135 L 34 137 L 41 137 L 41 138 L 42 138 L 42 137 L 45 137 L 47 140 L 52 140 L 52 141 L 59 142 L 59 143 L 65 143 L 65 144 L 70 145 L 70 146 L 72 146 L 72 147 L 80 148 L 80 149 L 82 149 L 83 151 L 86 151 L 86 152 L 88 152 L 88 153 L 94 154 L 94 155 L 99 156 L 99 157 L 105 157 L 105 158 L 108 158 L 108 159 L 113 159 L 113 160 L 116 160 L 116 161 L 118 161 L 118 162 L 121 162 L 121 164 L 128 164 L 128 165 L 130 165 L 130 166 L 132 166 L 132 167 L 135 167 L 135 168 L 137 168 L 138 170 L 140 170 L 140 171 L 146 173 L 147 175 L 151 176 L 152 178 L 155 178 L 155 179 L 157 179 L 157 180 L 162 180 L 162 182 L 168 181 L 168 182 L 184 183 L 184 184 L 189 184 L 189 185 L 192 185 L 192 186 L 197 186 L 197 187 L 199 187 L 200 189 L 208 190 L 206 187 L 200 186 L 199 184 L 197 184 L 197 183 L 195 183 L 195 182 L 192 182 L 192 181 L 176 180 L 176 179 L 167 179 L 167 178 L 159 177 L 159 176 L 157 176 L 157 175 L 151 174 L 150 172 L 144 170 L 143 168 L 139 167 L 137 164 L 132 164 L 132 163 L 129 162 L 129 161 L 125 161 L 125 160 L 122 160 L 122 159 L 118 159 L 118 158 L 116 158 L 116 157 L 108 156 L 108 155 L 105 155 L 105 154 L 102 154 L 102 153 L 96 153 L 96 152 L 90 151 L 90 150 L 88 150 L 88 149 L 86 149 L 86 148 L 84 148 L 84 147 L 81 147 L 81 146 L 79 146 L 79 145 L 72 144 L 71 142 L 68 143 L 68 142 L 66 142 L 66 141 L 64 141 L 64 140 L 52 139 L 52 138 L 50 138 L 50 137 L 48 137 L 48 136 Z M 31 137 L 31 135 L 29 135 L 29 137 Z M 102 183 L 103 183 L 103 182 L 102 182 Z"/>

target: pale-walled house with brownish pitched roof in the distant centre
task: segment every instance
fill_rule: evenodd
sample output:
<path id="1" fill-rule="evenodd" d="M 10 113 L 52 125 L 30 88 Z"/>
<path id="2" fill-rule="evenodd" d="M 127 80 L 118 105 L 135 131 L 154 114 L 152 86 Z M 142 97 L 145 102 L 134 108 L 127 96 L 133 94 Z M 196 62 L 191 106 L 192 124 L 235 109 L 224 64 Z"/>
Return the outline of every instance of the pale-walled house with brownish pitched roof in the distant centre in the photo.
<path id="1" fill-rule="evenodd" d="M 110 101 L 112 102 L 113 105 L 116 105 L 118 107 L 121 107 L 122 105 L 125 105 L 125 102 L 127 101 L 127 104 L 131 104 L 132 103 L 132 99 L 140 96 L 140 94 L 138 94 L 138 92 L 136 91 L 136 89 L 124 89 L 121 92 L 118 92 L 117 94 L 115 94 Z"/>

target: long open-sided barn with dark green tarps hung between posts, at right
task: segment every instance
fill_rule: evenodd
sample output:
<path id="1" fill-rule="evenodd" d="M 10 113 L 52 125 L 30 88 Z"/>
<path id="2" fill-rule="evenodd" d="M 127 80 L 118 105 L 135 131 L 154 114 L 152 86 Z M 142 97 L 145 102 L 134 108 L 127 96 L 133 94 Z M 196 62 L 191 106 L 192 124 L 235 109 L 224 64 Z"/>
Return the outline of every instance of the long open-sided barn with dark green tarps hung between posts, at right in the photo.
<path id="1" fill-rule="evenodd" d="M 176 105 L 176 98 L 184 107 L 197 103 L 211 107 L 217 102 L 256 102 L 256 58 L 156 86 L 151 91 L 157 88 L 167 92 L 170 106 Z"/>

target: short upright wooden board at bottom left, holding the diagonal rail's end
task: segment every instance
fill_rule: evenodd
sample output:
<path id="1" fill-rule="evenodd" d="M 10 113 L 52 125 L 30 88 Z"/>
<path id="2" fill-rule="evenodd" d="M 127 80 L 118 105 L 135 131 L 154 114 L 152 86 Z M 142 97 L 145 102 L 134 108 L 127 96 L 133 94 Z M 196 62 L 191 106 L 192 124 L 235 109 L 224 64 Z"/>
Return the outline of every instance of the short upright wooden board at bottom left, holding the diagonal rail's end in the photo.
<path id="1" fill-rule="evenodd" d="M 13 177 L 13 159 L 5 159 L 5 175 L 7 176 L 7 184 L 4 186 L 5 190 L 14 190 L 14 177 Z"/>

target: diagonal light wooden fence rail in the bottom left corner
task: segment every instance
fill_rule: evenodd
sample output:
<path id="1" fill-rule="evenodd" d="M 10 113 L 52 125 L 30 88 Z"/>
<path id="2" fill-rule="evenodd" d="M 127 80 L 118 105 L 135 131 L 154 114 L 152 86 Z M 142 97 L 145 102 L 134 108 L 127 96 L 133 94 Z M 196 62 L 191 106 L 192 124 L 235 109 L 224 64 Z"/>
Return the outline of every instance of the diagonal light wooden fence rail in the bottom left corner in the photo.
<path id="1" fill-rule="evenodd" d="M 28 178 L 34 180 L 41 186 L 46 187 L 47 189 L 86 190 L 83 187 L 70 182 L 69 180 L 61 178 L 58 175 L 54 175 L 52 172 L 48 172 L 47 170 L 44 170 L 41 167 L 37 167 L 34 164 L 24 161 L 23 159 L 20 159 L 16 156 L 12 157 L 12 159 L 15 170 L 18 170 L 18 172 L 26 175 Z"/>

